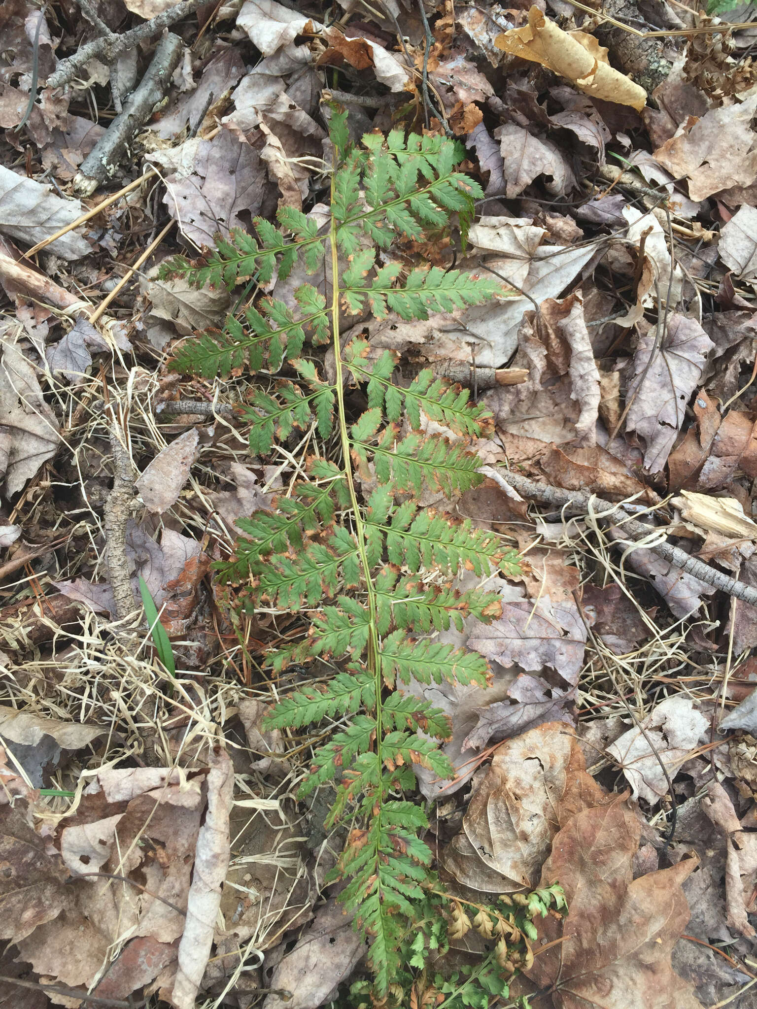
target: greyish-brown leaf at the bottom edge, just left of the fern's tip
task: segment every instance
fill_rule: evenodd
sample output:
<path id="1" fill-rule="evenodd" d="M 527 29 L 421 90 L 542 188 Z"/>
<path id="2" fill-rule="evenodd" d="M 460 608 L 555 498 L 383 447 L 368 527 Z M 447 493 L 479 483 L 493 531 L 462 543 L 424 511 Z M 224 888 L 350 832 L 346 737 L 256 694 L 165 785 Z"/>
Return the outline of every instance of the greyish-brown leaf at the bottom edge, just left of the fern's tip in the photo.
<path id="1" fill-rule="evenodd" d="M 351 974 L 365 952 L 352 919 L 332 897 L 274 971 L 271 987 L 292 993 L 266 996 L 263 1009 L 317 1009 Z"/>

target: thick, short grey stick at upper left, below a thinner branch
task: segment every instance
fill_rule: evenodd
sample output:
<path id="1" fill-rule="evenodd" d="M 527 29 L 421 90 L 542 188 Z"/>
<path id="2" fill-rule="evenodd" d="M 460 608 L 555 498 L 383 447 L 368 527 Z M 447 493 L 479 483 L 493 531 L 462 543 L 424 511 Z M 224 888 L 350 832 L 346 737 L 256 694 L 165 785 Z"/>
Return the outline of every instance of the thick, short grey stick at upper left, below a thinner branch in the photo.
<path id="1" fill-rule="evenodd" d="M 82 161 L 74 179 L 74 190 L 77 194 L 90 196 L 98 185 L 113 176 L 127 143 L 152 115 L 155 105 L 166 96 L 171 76 L 179 66 L 183 47 L 184 42 L 179 35 L 171 32 L 157 43 L 139 87 L 132 92 L 121 114 L 116 116 Z"/>

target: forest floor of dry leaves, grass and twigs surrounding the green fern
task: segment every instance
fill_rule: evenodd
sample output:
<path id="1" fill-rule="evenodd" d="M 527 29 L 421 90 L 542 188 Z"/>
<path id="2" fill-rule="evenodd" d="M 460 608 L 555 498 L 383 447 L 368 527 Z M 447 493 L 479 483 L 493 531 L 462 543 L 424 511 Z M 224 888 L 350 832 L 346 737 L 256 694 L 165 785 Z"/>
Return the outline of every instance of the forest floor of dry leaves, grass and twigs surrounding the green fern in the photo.
<path id="1" fill-rule="evenodd" d="M 257 376 L 170 361 L 256 292 L 157 276 L 278 208 L 322 224 L 334 102 L 356 141 L 457 138 L 484 191 L 469 247 L 394 251 L 513 293 L 358 320 L 469 388 L 481 465 L 521 479 L 451 502 L 523 571 L 452 636 L 493 686 L 426 695 L 456 772 L 420 775 L 439 865 L 480 893 L 524 853 L 536 886 L 551 853 L 588 980 L 527 971 L 534 1007 L 757 1006 L 757 8 L 593 6 L 0 6 L 0 1005 L 317 1009 L 366 975 L 325 882 L 329 790 L 297 796 L 336 719 L 262 724 L 312 681 L 271 661 L 308 614 L 245 611 L 212 566 L 315 424 L 250 454 Z M 594 788 L 622 813 L 590 855 L 534 836 L 524 808 Z M 409 1005 L 485 1004 L 445 984 L 424 968 Z"/>

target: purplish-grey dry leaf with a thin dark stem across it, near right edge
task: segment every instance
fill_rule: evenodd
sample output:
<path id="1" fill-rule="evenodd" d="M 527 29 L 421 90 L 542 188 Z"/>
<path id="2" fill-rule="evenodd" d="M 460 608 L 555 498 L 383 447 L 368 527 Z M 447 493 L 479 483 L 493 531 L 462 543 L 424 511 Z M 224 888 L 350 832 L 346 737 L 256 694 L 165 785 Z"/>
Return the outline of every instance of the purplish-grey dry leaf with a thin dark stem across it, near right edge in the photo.
<path id="1" fill-rule="evenodd" d="M 645 328 L 626 394 L 626 403 L 630 404 L 626 431 L 634 431 L 644 439 L 644 465 L 656 473 L 665 465 L 683 423 L 688 399 L 715 344 L 695 319 L 677 312 L 669 317 L 659 346 L 656 327 Z"/>

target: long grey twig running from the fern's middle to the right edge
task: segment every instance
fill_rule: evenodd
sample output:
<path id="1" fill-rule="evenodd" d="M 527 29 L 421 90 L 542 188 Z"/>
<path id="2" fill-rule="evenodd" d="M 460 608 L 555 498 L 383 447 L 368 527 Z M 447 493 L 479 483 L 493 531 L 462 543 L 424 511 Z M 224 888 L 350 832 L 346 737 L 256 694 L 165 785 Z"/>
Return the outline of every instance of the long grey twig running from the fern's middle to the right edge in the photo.
<path id="1" fill-rule="evenodd" d="M 491 479 L 495 480 L 496 483 L 499 483 L 505 489 L 512 487 L 526 497 L 533 497 L 536 500 L 543 501 L 545 504 L 552 504 L 557 509 L 564 508 L 567 504 L 587 510 L 589 500 L 594 508 L 607 511 L 608 513 L 617 512 L 618 508 L 622 507 L 605 500 L 602 497 L 597 497 L 594 494 L 587 493 L 586 491 L 563 490 L 561 487 L 536 483 L 534 480 L 529 480 L 526 476 L 521 476 L 519 473 L 513 473 L 510 470 L 481 466 L 478 472 L 491 477 Z M 618 525 L 617 522 L 616 525 Z M 625 513 L 621 528 L 626 539 L 613 541 L 616 546 L 620 547 L 628 546 L 629 542 L 633 543 L 646 539 L 651 532 L 654 532 L 653 526 L 647 526 L 636 519 L 626 518 Z M 658 557 L 662 557 L 670 564 L 680 568 L 681 571 L 685 571 L 693 575 L 694 578 L 698 578 L 699 581 L 704 581 L 708 585 L 714 585 L 716 588 L 720 588 L 729 595 L 733 595 L 737 599 L 742 599 L 752 606 L 757 606 L 757 589 L 752 588 L 751 585 L 746 585 L 743 581 L 731 578 L 729 575 L 710 567 L 709 564 L 705 564 L 704 561 L 698 560 L 696 557 L 691 557 L 684 550 L 673 547 L 669 543 L 650 543 L 643 544 L 643 546 L 657 554 Z"/>

